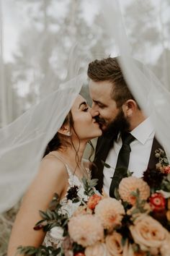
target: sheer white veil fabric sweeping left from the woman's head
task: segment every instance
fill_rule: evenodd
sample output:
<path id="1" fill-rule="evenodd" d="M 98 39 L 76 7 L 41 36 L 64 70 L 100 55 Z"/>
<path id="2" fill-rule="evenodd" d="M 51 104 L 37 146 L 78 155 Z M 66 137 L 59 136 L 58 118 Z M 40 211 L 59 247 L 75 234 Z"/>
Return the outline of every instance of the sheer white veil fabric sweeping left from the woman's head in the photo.
<path id="1" fill-rule="evenodd" d="M 83 80 L 81 75 L 69 80 L 0 130 L 0 211 L 11 208 L 30 184 L 45 146 L 61 127 Z"/>

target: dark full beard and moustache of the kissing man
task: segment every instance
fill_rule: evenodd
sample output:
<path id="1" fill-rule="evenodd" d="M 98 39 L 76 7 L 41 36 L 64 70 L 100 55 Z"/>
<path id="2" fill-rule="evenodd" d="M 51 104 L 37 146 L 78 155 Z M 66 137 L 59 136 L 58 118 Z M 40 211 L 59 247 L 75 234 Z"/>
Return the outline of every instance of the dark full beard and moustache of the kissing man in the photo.
<path id="1" fill-rule="evenodd" d="M 100 119 L 98 116 L 95 118 L 99 124 L 106 124 L 104 119 Z M 130 123 L 129 121 L 125 118 L 125 115 L 120 109 L 120 112 L 117 114 L 115 119 L 107 125 L 107 128 L 103 130 L 103 135 L 110 137 L 110 135 L 114 135 L 114 137 L 117 137 L 119 132 L 128 132 L 130 128 Z"/>

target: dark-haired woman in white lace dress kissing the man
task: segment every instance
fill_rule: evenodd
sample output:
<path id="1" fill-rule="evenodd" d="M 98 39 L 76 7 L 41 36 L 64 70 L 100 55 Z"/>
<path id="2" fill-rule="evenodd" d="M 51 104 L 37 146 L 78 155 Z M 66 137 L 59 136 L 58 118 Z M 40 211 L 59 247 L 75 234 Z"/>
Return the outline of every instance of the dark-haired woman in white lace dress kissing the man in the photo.
<path id="1" fill-rule="evenodd" d="M 39 210 L 46 210 L 57 193 L 63 208 L 67 208 L 71 216 L 78 205 L 71 205 L 66 200 L 67 190 L 76 184 L 84 196 L 81 178 L 89 176 L 89 168 L 82 161 L 84 149 L 89 140 L 101 135 L 102 130 L 92 118 L 89 106 L 78 95 L 63 125 L 48 143 L 37 176 L 24 195 L 9 240 L 8 256 L 14 256 L 19 245 L 39 247 L 43 242 L 52 244 L 50 234 L 45 236 L 44 231 L 33 229 L 40 221 Z"/>

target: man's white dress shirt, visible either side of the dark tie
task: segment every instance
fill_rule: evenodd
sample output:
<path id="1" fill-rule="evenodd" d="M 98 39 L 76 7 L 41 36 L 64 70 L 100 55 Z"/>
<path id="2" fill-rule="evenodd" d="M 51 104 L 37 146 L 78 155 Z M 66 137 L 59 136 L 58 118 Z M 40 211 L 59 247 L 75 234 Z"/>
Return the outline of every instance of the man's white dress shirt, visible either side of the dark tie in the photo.
<path id="1" fill-rule="evenodd" d="M 130 143 L 130 161 L 128 170 L 133 172 L 133 176 L 138 178 L 143 176 L 143 172 L 148 167 L 148 161 L 151 155 L 151 148 L 153 144 L 153 137 L 155 135 L 151 120 L 147 118 L 142 123 L 135 127 L 130 132 L 136 140 Z M 108 163 L 112 168 L 103 169 L 104 180 L 103 189 L 109 195 L 109 187 L 112 182 L 111 177 L 115 172 L 117 157 L 122 147 L 122 139 L 120 135 L 117 136 L 117 141 L 114 142 L 113 147 L 109 150 L 105 163 Z"/>

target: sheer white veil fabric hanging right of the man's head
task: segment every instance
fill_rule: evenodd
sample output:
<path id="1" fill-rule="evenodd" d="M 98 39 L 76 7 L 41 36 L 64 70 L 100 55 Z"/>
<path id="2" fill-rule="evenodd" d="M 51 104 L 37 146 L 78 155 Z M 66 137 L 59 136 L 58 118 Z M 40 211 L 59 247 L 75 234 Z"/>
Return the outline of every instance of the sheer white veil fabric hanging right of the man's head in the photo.
<path id="1" fill-rule="evenodd" d="M 120 65 L 128 86 L 143 111 L 151 116 L 156 137 L 170 159 L 168 55 L 170 35 L 167 28 L 170 24 L 170 16 L 166 12 L 169 9 L 168 2 L 127 1 L 125 3 L 125 1 L 107 0 L 104 3 L 101 1 L 101 9 L 107 34 L 115 38 Z M 163 20 L 160 20 L 161 18 Z M 131 27 L 128 27 L 128 20 L 132 21 Z M 140 67 L 134 58 L 140 60 Z"/>

